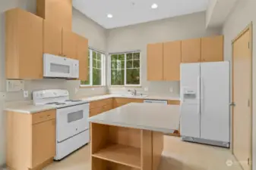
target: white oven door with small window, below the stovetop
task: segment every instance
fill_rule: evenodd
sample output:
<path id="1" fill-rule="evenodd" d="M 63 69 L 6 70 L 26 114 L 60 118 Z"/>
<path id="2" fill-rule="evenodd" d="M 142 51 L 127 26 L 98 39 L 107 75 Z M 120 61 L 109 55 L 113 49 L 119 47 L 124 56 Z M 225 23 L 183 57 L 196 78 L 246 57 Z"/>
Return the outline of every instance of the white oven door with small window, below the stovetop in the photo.
<path id="1" fill-rule="evenodd" d="M 56 134 L 57 142 L 65 141 L 89 128 L 89 104 L 57 109 Z"/>

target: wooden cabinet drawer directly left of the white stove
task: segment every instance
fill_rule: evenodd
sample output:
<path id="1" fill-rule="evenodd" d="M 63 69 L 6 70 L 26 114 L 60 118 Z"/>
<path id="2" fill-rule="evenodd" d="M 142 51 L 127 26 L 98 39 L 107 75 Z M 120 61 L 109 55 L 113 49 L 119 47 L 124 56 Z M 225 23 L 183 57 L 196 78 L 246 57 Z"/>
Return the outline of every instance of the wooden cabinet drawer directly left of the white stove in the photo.
<path id="1" fill-rule="evenodd" d="M 49 110 L 40 113 L 33 113 L 32 114 L 32 124 L 46 122 L 47 120 L 55 119 L 56 118 L 56 110 Z"/>

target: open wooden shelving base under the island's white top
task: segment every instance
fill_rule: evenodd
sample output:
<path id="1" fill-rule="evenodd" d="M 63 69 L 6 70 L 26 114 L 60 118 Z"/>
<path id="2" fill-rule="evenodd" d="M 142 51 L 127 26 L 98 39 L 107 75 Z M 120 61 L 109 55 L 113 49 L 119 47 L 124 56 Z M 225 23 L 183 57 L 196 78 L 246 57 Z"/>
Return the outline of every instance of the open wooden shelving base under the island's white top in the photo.
<path id="1" fill-rule="evenodd" d="M 135 128 L 91 123 L 92 170 L 156 170 L 153 168 L 153 162 L 158 164 L 157 158 L 160 156 L 153 154 L 160 155 L 162 152 L 163 134 L 160 135 L 160 140 L 156 140 L 160 143 L 156 142 L 156 146 L 153 146 L 153 133 Z"/>

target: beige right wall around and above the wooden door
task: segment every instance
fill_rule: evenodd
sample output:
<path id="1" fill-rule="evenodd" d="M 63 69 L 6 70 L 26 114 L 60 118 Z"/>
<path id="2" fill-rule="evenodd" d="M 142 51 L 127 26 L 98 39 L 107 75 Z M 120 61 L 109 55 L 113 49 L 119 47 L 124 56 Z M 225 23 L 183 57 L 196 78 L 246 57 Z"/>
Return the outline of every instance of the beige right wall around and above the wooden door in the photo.
<path id="1" fill-rule="evenodd" d="M 253 170 L 256 170 L 256 1 L 255 0 L 240 0 L 233 8 L 231 14 L 226 19 L 223 26 L 223 34 L 225 36 L 224 42 L 224 56 L 225 60 L 232 60 L 232 40 L 242 32 L 251 21 L 253 22 Z"/>

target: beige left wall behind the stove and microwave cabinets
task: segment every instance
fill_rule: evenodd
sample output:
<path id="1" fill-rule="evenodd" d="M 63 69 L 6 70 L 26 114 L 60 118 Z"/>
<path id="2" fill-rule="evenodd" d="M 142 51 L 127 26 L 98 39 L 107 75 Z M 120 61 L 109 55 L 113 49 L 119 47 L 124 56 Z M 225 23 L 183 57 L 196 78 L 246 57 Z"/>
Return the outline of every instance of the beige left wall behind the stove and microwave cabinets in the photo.
<path id="1" fill-rule="evenodd" d="M 26 11 L 36 13 L 36 0 L 1 0 L 0 2 L 0 92 L 5 92 L 5 14 L 11 8 L 23 8 Z M 85 17 L 79 11 L 73 11 L 73 31 L 89 39 L 89 45 L 93 48 L 106 51 L 106 29 Z M 106 88 L 79 87 L 79 81 L 65 81 L 63 79 L 43 79 L 25 81 L 25 90 L 30 92 L 30 97 L 24 98 L 23 92 L 9 92 L 5 101 L 31 100 L 31 92 L 47 88 L 67 88 L 71 96 L 105 94 Z M 3 101 L 0 99 L 3 103 Z M 5 163 L 5 114 L 3 105 L 0 104 L 0 167 Z"/>

